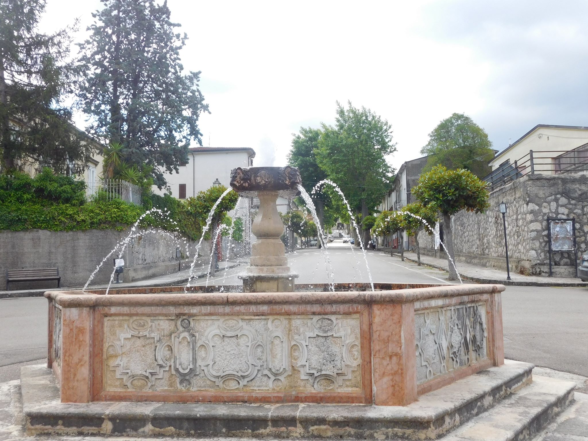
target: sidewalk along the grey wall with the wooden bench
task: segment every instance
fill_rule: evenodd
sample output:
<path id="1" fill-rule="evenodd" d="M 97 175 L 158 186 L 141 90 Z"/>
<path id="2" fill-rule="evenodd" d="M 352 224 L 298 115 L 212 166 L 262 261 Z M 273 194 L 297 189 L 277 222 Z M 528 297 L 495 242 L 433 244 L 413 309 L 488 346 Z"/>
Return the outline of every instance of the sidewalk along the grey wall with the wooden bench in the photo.
<path id="1" fill-rule="evenodd" d="M 216 270 L 218 273 L 219 271 L 224 271 L 225 269 L 235 268 L 236 266 L 241 265 L 243 262 L 226 262 L 222 261 L 219 262 L 219 269 Z M 196 279 L 206 277 L 206 273 L 208 272 L 208 265 L 199 266 L 194 268 L 194 276 Z M 122 283 L 112 283 L 111 289 L 117 288 L 140 288 L 144 286 L 148 288 L 150 286 L 176 286 L 176 285 L 184 285 L 188 282 L 188 277 L 190 275 L 190 270 L 185 269 L 178 272 L 173 272 L 169 274 L 164 274 L 162 276 L 157 276 L 151 279 L 143 279 L 143 280 L 135 280 L 133 282 L 122 282 Z M 88 275 L 89 276 L 89 275 Z M 123 274 L 124 277 L 124 274 Z M 89 285 L 88 289 L 106 289 L 108 284 L 106 285 Z M 83 286 L 71 286 L 68 288 L 44 288 L 44 289 L 21 289 L 21 290 L 10 290 L 10 291 L 0 291 L 0 299 L 12 299 L 12 298 L 19 298 L 19 297 L 42 297 L 46 291 L 56 291 L 56 290 L 73 290 L 73 289 L 82 289 Z"/>

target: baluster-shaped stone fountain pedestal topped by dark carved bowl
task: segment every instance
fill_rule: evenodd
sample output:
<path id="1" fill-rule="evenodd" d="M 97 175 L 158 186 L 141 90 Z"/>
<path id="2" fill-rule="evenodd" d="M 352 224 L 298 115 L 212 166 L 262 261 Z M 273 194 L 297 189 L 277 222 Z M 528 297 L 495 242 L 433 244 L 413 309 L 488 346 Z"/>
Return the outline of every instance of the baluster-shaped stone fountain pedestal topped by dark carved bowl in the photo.
<path id="1" fill-rule="evenodd" d="M 243 280 L 243 292 L 293 292 L 298 274 L 288 266 L 285 247 L 280 240 L 284 225 L 278 212 L 278 196 L 291 198 L 300 194 L 301 178 L 292 167 L 236 168 L 231 172 L 230 186 L 240 196 L 258 197 L 259 213 L 252 233 L 250 266 Z"/>

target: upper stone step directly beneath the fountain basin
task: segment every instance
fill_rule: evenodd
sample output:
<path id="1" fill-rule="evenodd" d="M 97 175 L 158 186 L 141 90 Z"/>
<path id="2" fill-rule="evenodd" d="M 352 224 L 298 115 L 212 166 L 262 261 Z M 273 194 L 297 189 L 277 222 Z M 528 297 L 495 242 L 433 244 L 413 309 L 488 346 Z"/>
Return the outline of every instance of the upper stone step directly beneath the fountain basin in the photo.
<path id="1" fill-rule="evenodd" d="M 529 384 L 532 368 L 507 362 L 409 406 L 60 403 L 55 377 L 44 366 L 22 368 L 21 389 L 29 434 L 433 439 L 516 395 Z"/>

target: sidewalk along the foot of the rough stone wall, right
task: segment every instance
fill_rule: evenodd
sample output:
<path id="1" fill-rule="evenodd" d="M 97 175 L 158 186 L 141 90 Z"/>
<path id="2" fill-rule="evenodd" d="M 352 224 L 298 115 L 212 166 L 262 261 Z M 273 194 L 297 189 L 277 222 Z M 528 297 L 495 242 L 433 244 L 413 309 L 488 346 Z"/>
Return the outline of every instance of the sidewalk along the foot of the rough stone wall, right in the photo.
<path id="1" fill-rule="evenodd" d="M 379 251 L 390 255 L 390 248 L 380 248 Z M 405 251 L 405 259 L 410 262 L 417 262 L 416 253 Z M 400 258 L 400 253 L 394 251 L 394 256 Z M 420 262 L 423 265 L 432 266 L 433 268 L 446 270 L 449 268 L 447 259 L 439 259 L 431 256 L 420 255 Z M 455 262 L 457 272 L 462 279 L 472 280 L 479 283 L 501 283 L 502 285 L 512 286 L 587 286 L 588 282 L 582 282 L 580 279 L 569 279 L 559 277 L 540 277 L 540 276 L 523 276 L 511 272 L 510 279 L 506 280 L 506 271 L 489 268 L 486 266 L 473 265 L 472 263 Z"/>

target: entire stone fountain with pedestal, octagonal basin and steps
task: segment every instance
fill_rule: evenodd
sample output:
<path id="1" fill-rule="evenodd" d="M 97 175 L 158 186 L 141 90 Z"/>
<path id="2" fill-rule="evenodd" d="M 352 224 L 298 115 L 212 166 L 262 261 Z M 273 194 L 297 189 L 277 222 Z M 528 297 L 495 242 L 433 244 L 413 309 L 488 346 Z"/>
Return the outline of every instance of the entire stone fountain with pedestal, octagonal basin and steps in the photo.
<path id="1" fill-rule="evenodd" d="M 295 291 L 276 198 L 299 183 L 290 167 L 233 170 L 260 200 L 243 292 L 46 292 L 47 365 L 21 372 L 28 433 L 435 439 L 519 389 L 540 415 L 572 399 L 574 383 L 505 364 L 502 285 Z"/>

